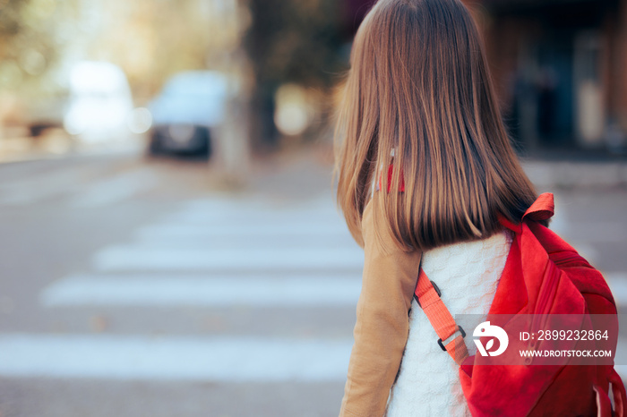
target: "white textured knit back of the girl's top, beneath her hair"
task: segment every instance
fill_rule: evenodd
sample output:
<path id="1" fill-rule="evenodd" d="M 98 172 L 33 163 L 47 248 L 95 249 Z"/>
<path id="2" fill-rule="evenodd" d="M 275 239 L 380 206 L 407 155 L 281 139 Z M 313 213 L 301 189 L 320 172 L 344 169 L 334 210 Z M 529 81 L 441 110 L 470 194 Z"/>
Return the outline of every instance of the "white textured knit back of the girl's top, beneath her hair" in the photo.
<path id="1" fill-rule="evenodd" d="M 487 315 L 511 240 L 511 233 L 502 231 L 481 241 L 455 243 L 423 254 L 421 266 L 442 290 L 442 301 L 457 323 L 465 328 L 471 355 L 477 351 L 471 340 L 472 331 L 480 321 L 478 316 L 458 315 Z M 442 352 L 437 340 L 425 312 L 414 300 L 408 342 L 398 379 L 391 389 L 388 417 L 470 415 L 461 391 L 459 366 Z"/>

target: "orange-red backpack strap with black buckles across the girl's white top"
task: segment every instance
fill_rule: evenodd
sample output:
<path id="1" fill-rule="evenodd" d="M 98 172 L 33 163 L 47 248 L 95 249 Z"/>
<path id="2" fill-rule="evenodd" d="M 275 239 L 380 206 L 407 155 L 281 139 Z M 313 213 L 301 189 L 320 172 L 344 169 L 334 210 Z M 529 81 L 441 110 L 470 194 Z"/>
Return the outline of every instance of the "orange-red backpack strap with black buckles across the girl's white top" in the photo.
<path id="1" fill-rule="evenodd" d="M 464 343 L 466 332 L 455 322 L 451 311 L 446 308 L 440 298 L 440 288 L 426 277 L 425 271 L 420 268 L 418 284 L 414 296 L 420 307 L 425 311 L 435 334 L 440 337 L 438 345 L 449 353 L 458 365 L 468 358 L 468 349 Z"/>

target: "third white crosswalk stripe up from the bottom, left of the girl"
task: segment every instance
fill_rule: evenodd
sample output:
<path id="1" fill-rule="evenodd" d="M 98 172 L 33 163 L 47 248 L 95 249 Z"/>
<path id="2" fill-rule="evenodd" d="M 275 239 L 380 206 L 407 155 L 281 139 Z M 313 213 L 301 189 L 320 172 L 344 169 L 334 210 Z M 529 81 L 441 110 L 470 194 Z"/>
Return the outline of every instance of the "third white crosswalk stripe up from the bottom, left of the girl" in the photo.
<path id="1" fill-rule="evenodd" d="M 361 271 L 364 252 L 357 246 L 328 248 L 216 248 L 162 249 L 143 246 L 113 246 L 99 251 L 93 259 L 100 271 L 116 270 L 247 270 L 268 269 L 353 269 Z"/>

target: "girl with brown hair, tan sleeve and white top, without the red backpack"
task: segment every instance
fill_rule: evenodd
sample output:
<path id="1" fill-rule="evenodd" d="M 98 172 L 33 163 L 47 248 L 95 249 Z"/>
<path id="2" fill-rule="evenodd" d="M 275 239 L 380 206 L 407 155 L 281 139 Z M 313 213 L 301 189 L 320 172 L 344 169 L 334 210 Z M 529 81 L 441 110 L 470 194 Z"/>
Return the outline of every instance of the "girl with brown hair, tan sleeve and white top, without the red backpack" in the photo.
<path id="1" fill-rule="evenodd" d="M 487 314 L 511 245 L 498 217 L 520 223 L 537 194 L 460 0 L 380 0 L 350 60 L 336 173 L 365 265 L 340 415 L 465 415 L 458 366 L 413 301 L 418 270 L 454 314 Z"/>

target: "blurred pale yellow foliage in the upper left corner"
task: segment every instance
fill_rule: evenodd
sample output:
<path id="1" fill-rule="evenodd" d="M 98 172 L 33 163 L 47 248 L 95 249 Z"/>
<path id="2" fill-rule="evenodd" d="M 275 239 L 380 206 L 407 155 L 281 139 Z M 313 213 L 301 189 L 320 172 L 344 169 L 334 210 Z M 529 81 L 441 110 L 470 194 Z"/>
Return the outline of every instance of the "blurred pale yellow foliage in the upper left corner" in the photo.
<path id="1" fill-rule="evenodd" d="M 236 0 L 0 0 L 0 89 L 63 90 L 84 59 L 120 65 L 140 102 L 175 72 L 218 69 L 241 37 Z"/>

